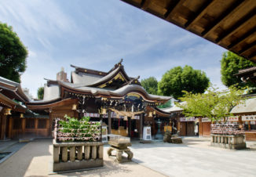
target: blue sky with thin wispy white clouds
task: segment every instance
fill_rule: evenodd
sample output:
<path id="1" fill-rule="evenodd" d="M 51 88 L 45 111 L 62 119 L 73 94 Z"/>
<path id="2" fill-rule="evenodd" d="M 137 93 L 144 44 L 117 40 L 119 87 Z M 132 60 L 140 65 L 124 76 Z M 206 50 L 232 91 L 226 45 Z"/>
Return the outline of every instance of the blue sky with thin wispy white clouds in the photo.
<path id="1" fill-rule="evenodd" d="M 37 88 L 70 64 L 110 70 L 123 58 L 130 77 L 159 81 L 166 70 L 190 65 L 221 84 L 225 49 L 118 0 L 2 0 L 0 21 L 13 26 L 27 47 L 21 85 Z"/>

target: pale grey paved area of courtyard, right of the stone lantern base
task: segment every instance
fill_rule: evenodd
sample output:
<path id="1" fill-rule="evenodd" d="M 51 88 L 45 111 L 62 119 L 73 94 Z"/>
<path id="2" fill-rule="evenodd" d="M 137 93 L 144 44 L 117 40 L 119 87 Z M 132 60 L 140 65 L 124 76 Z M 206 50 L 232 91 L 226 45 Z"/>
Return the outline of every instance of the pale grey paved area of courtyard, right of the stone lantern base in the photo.
<path id="1" fill-rule="evenodd" d="M 169 176 L 256 176 L 255 150 L 211 147 L 208 139 L 183 141 L 181 145 L 133 144 L 133 161 Z"/>

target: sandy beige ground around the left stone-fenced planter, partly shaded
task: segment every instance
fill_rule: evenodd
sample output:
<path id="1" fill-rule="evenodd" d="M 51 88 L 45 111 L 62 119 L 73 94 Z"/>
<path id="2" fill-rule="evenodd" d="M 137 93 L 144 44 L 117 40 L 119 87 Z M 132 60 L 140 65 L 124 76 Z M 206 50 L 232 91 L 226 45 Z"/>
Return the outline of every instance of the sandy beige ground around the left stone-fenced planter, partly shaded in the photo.
<path id="1" fill-rule="evenodd" d="M 165 175 L 155 172 L 135 162 L 116 164 L 108 158 L 108 146 L 104 147 L 104 168 L 84 172 L 49 175 L 52 161 L 52 140 L 38 140 L 27 143 L 12 157 L 0 164 L 0 177 L 20 176 L 141 176 L 163 177 Z"/>

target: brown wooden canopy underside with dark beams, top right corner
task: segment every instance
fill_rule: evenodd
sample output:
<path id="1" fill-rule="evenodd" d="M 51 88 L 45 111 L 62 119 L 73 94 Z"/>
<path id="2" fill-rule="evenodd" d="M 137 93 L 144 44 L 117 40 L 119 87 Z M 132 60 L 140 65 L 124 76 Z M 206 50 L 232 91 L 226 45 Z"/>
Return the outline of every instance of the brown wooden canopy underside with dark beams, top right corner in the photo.
<path id="1" fill-rule="evenodd" d="M 256 63 L 255 0 L 122 0 Z"/>

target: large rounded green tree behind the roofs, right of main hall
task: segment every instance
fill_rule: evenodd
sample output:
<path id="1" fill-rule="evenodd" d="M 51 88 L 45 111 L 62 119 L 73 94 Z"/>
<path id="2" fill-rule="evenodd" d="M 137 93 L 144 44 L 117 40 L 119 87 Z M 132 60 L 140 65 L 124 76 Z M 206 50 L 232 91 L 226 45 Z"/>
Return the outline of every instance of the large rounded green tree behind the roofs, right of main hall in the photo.
<path id="1" fill-rule="evenodd" d="M 174 96 L 175 99 L 184 95 L 184 91 L 203 93 L 209 86 L 210 80 L 202 70 L 194 70 L 190 66 L 174 67 L 163 74 L 159 81 L 159 94 Z"/>

